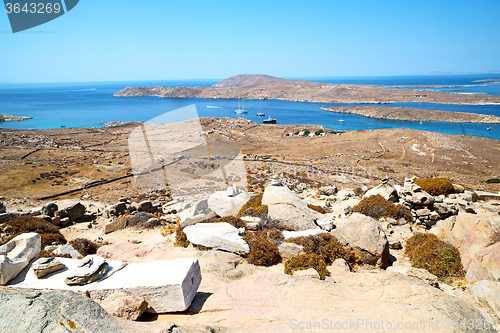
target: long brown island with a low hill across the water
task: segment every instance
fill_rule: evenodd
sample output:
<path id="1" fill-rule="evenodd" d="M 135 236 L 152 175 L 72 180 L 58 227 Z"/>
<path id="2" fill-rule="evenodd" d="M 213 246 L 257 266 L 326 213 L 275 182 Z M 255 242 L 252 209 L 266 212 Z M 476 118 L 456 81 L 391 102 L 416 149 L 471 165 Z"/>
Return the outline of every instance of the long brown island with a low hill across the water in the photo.
<path id="1" fill-rule="evenodd" d="M 286 80 L 268 75 L 237 75 L 213 87 L 127 87 L 116 97 L 279 99 L 312 103 L 395 103 L 498 105 L 500 96 L 453 94 L 428 90 L 386 89 L 359 84 Z"/>

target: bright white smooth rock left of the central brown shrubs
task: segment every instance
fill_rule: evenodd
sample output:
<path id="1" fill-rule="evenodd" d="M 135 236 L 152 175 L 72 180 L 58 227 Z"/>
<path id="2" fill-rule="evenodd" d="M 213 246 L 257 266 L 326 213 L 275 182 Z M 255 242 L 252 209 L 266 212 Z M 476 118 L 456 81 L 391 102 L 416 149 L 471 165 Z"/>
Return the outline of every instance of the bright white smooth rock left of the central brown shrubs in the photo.
<path id="1" fill-rule="evenodd" d="M 226 222 L 197 223 L 184 228 L 187 239 L 196 245 L 234 253 L 248 253 L 250 248 L 238 229 Z"/>

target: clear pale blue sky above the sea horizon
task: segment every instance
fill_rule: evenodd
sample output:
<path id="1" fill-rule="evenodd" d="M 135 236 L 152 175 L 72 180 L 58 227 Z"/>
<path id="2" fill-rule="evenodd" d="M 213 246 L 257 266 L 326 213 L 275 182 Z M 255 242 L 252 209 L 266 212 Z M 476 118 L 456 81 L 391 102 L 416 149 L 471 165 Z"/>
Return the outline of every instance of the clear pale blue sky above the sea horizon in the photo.
<path id="1" fill-rule="evenodd" d="M 81 0 L 16 34 L 0 13 L 0 81 L 496 71 L 499 15 L 497 0 Z"/>

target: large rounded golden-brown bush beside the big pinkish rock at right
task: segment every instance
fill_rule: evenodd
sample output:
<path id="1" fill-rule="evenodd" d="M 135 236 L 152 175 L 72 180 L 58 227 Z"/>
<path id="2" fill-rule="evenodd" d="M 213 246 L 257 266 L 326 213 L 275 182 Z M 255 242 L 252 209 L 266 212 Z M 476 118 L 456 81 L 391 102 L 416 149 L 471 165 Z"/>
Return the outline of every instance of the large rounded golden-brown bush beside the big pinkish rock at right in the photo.
<path id="1" fill-rule="evenodd" d="M 413 235 L 406 241 L 405 255 L 409 257 L 413 267 L 426 269 L 444 282 L 465 277 L 458 249 L 436 235 Z"/>

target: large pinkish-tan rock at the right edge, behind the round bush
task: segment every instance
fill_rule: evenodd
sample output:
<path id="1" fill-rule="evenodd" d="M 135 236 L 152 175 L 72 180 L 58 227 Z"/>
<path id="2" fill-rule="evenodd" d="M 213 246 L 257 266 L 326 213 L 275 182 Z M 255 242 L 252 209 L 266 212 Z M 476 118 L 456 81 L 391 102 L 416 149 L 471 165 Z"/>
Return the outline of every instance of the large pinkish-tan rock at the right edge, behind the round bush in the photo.
<path id="1" fill-rule="evenodd" d="M 468 282 L 500 279 L 500 217 L 494 213 L 460 212 L 432 229 L 438 238 L 460 251 Z"/>

